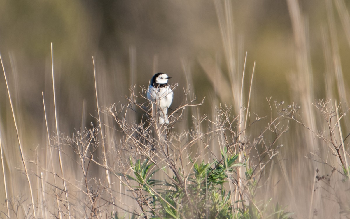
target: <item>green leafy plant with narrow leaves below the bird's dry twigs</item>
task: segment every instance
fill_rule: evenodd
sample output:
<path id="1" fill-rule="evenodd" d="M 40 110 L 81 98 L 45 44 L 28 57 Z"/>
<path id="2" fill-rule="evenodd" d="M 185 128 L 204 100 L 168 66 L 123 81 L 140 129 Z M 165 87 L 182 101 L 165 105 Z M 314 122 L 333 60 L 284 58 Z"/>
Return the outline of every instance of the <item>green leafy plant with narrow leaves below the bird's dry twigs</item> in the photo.
<path id="1" fill-rule="evenodd" d="M 227 150 L 225 150 L 227 152 Z M 125 175 L 128 180 L 136 182 L 133 192 L 138 194 L 137 201 L 141 209 L 148 209 L 149 218 L 261 218 L 259 210 L 253 205 L 245 205 L 234 209 L 231 202 L 231 191 L 225 187 L 229 183 L 235 167 L 247 166 L 238 163 L 238 154 L 226 156 L 222 151 L 221 160 L 210 163 L 197 163 L 191 160 L 193 170 L 188 174 L 186 183 L 181 183 L 177 175 L 170 181 L 154 180 L 152 176 L 160 169 L 151 160 L 130 160 L 132 175 Z M 252 169 L 248 168 L 246 179 L 250 180 Z M 182 172 L 182 169 L 178 170 Z M 183 175 L 181 176 L 183 177 Z M 264 206 L 267 209 L 267 206 Z M 290 219 L 292 213 L 276 204 L 274 213 L 266 218 Z M 135 217 L 135 214 L 132 216 Z"/>

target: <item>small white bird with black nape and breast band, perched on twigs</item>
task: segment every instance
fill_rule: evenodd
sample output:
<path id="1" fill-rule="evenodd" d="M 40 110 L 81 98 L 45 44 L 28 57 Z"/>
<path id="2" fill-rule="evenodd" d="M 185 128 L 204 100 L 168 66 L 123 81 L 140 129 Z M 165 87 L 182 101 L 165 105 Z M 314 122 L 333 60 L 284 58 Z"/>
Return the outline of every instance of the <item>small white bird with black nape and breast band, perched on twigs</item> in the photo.
<path id="1" fill-rule="evenodd" d="M 151 102 L 152 110 L 156 109 L 159 124 L 164 122 L 169 124 L 168 108 L 172 104 L 174 95 L 168 84 L 169 78 L 171 77 L 161 72 L 155 74 L 147 90 L 147 99 Z"/>

